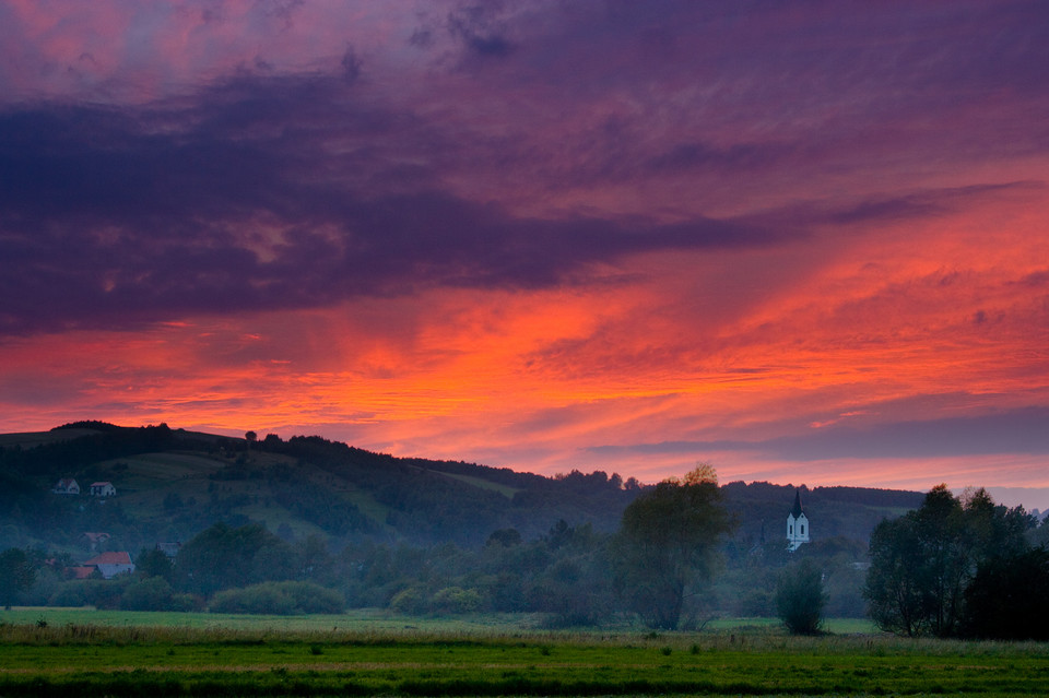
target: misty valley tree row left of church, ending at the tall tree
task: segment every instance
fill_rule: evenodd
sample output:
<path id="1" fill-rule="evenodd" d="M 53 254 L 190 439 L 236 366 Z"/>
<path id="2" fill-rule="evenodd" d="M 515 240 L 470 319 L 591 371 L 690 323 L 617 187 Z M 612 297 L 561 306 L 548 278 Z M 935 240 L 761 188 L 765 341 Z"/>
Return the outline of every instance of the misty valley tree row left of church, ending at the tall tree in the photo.
<path id="1" fill-rule="evenodd" d="M 413 614 L 538 612 L 564 626 L 628 611 L 652 627 L 675 628 L 695 623 L 719 544 L 731 530 L 721 497 L 714 471 L 696 471 L 637 497 L 616 533 L 561 520 L 533 541 L 498 529 L 480 548 L 363 540 L 332 552 L 319 535 L 292 545 L 261 524 L 220 522 L 174 559 L 141 551 L 135 572 L 111 580 L 62 580 L 62 560 L 13 548 L 0 556 L 17 571 L 0 569 L 9 580 L 0 602 L 270 613 L 345 605 Z"/>

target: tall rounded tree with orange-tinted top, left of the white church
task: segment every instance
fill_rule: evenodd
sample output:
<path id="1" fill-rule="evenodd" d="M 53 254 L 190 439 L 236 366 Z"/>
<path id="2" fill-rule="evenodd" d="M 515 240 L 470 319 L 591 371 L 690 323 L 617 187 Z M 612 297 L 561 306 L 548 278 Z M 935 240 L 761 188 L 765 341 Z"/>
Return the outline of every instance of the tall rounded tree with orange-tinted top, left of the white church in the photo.
<path id="1" fill-rule="evenodd" d="M 720 540 L 732 528 L 717 473 L 706 464 L 635 499 L 623 512 L 616 570 L 628 607 L 650 627 L 677 628 L 694 615 Z"/>

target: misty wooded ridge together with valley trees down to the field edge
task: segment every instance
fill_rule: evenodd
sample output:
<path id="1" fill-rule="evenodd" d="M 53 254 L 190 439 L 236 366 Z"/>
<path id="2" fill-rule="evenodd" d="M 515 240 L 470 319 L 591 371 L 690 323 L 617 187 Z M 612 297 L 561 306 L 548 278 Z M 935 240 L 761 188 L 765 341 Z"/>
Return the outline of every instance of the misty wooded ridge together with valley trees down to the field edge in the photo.
<path id="1" fill-rule="evenodd" d="M 166 425 L 80 422 L 0 435 L 0 549 L 14 570 L 10 579 L 22 579 L 9 585 L 5 603 L 523 611 L 562 625 L 634 608 L 660 627 L 693 626 L 719 614 L 775 615 L 781 571 L 811 558 L 825 580 L 828 612 L 860 616 L 871 531 L 922 501 L 920 493 L 871 488 L 718 486 L 710 473 L 702 483 L 708 494 L 695 501 L 723 517 L 682 519 L 718 523 L 709 531 L 682 524 L 689 549 L 698 545 L 704 554 L 685 556 L 679 568 L 645 549 L 651 535 L 632 544 L 622 527 L 641 516 L 645 531 L 652 522 L 644 512 L 661 492 L 676 501 L 675 493 L 688 490 L 680 482 L 643 485 L 602 471 L 547 477 L 394 458 L 317 436 L 229 438 Z M 81 494 L 55 494 L 62 478 L 75 478 Z M 111 483 L 117 494 L 92 496 L 96 482 Z M 812 542 L 790 555 L 785 528 L 795 492 Z M 635 504 L 643 513 L 630 519 L 624 512 Z M 105 551 L 129 553 L 134 575 L 70 578 L 70 569 Z M 657 566 L 684 573 L 673 589 L 647 587 L 676 599 L 658 612 L 635 593 Z"/>

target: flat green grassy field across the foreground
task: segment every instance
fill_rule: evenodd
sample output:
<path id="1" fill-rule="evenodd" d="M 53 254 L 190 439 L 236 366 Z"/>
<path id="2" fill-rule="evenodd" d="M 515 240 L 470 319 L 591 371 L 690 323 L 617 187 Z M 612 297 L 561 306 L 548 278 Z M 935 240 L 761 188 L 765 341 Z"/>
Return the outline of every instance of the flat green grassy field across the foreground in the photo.
<path id="1" fill-rule="evenodd" d="M 1046 644 L 791 638 L 756 622 L 652 634 L 377 612 L 0 618 L 0 696 L 1049 695 Z"/>

